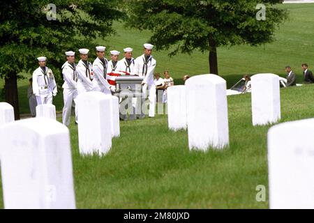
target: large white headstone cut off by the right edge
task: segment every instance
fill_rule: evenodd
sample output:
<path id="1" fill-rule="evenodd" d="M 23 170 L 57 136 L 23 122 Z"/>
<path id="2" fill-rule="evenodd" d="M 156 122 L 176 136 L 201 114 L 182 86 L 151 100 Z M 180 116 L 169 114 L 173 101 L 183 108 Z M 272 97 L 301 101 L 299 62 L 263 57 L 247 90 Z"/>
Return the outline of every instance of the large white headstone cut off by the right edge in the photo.
<path id="1" fill-rule="evenodd" d="M 268 132 L 270 208 L 314 208 L 314 118 Z"/>

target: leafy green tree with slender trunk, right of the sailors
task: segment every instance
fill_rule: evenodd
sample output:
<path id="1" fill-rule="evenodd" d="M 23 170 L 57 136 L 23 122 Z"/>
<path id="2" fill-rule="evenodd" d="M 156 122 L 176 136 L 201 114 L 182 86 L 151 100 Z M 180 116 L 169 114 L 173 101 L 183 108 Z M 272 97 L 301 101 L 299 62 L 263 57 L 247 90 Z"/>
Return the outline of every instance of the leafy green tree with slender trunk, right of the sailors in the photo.
<path id="1" fill-rule="evenodd" d="M 217 47 L 273 41 L 276 26 L 287 18 L 274 6 L 282 2 L 262 1 L 264 8 L 252 0 L 129 0 L 127 24 L 152 31 L 149 41 L 157 49 L 174 45 L 170 56 L 209 51 L 209 72 L 218 75 Z"/>

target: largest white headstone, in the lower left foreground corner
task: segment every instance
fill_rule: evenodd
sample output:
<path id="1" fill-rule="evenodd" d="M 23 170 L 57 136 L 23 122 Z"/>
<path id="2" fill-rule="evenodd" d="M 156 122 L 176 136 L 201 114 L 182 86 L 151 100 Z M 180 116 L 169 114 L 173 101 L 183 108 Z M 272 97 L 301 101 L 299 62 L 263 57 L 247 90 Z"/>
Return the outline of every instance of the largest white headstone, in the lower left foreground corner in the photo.
<path id="1" fill-rule="evenodd" d="M 5 208 L 75 208 L 68 128 L 51 118 L 0 127 Z"/>

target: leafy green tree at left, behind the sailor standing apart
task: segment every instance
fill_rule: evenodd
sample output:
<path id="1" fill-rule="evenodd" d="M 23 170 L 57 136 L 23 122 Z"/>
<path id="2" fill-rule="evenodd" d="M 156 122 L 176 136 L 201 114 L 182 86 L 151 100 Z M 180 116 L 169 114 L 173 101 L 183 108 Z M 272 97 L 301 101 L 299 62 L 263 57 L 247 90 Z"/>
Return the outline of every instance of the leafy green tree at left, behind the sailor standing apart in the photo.
<path id="1" fill-rule="evenodd" d="M 15 119 L 20 118 L 17 79 L 20 72 L 38 67 L 38 56 L 47 56 L 57 82 L 61 82 L 64 52 L 90 46 L 92 40 L 104 38 L 112 21 L 123 14 L 117 0 L 10 0 L 0 7 L 0 77 L 5 79 L 6 102 L 13 105 Z M 54 16 L 54 9 L 55 15 Z"/>

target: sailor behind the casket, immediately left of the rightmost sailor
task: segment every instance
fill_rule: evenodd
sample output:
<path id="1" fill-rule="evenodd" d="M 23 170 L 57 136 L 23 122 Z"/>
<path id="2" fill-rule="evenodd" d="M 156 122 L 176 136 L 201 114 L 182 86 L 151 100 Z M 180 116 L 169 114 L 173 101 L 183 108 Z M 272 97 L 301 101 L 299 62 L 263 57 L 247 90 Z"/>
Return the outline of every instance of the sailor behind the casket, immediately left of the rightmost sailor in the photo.
<path id="1" fill-rule="evenodd" d="M 118 61 L 117 70 L 121 72 L 126 72 L 130 75 L 135 75 L 134 66 L 135 61 L 132 57 L 133 49 L 130 47 L 124 48 L 124 59 Z M 133 103 L 133 105 L 132 105 Z M 129 119 L 134 120 L 135 116 L 135 103 L 136 98 L 124 98 L 120 103 L 120 118 L 124 121 L 128 120 L 128 114 L 130 114 Z"/>

